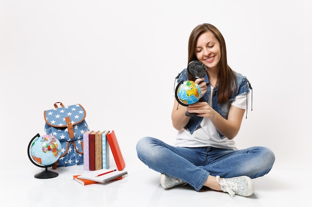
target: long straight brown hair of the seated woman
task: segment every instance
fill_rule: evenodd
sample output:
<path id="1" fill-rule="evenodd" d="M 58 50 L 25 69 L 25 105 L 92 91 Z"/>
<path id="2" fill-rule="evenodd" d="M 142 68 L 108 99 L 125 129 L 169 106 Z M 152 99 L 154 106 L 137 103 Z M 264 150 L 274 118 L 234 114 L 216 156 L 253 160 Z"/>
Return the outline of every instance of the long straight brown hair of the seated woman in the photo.
<path id="1" fill-rule="evenodd" d="M 234 71 L 227 65 L 227 57 L 226 57 L 226 46 L 225 40 L 221 32 L 213 25 L 204 23 L 196 26 L 193 31 L 191 32 L 189 39 L 188 39 L 188 63 L 191 61 L 198 61 L 196 58 L 196 44 L 198 37 L 210 31 L 215 36 L 215 38 L 220 43 L 220 50 L 221 50 L 221 59 L 218 63 L 219 66 L 219 74 L 218 74 L 218 103 L 229 101 L 229 98 L 232 96 L 232 87 L 234 91 L 237 90 L 237 79 L 235 76 Z M 188 78 L 191 79 L 189 74 Z"/>

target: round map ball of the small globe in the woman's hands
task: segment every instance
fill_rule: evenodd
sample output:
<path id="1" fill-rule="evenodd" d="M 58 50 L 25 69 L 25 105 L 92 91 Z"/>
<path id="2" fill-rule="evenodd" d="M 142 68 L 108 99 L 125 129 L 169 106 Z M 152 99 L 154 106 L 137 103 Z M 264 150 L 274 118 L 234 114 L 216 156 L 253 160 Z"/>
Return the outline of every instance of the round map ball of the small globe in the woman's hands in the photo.
<path id="1" fill-rule="evenodd" d="M 192 80 L 186 80 L 176 88 L 176 96 L 177 101 L 181 105 L 188 106 L 200 99 L 201 90 L 197 83 Z"/>

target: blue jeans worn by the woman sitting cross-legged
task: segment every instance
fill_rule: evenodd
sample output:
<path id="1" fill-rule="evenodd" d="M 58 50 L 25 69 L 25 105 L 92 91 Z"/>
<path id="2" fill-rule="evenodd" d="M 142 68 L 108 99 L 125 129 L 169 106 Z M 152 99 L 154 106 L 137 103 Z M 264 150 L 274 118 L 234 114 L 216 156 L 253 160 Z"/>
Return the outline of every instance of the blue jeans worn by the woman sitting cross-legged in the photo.
<path id="1" fill-rule="evenodd" d="M 176 147 L 151 137 L 138 141 L 137 153 L 149 168 L 179 178 L 196 191 L 202 188 L 208 175 L 257 178 L 267 174 L 275 161 L 274 153 L 262 146 L 241 150 Z"/>

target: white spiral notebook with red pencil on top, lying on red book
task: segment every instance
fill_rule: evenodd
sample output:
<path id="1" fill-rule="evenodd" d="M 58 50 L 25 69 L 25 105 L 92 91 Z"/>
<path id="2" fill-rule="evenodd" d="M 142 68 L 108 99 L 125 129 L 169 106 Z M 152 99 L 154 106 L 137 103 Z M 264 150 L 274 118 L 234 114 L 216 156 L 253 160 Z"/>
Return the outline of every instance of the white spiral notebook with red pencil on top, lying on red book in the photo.
<path id="1" fill-rule="evenodd" d="M 111 180 L 127 175 L 127 171 L 118 171 L 112 169 L 95 170 L 78 176 L 79 179 L 92 180 L 98 183 L 107 183 Z"/>

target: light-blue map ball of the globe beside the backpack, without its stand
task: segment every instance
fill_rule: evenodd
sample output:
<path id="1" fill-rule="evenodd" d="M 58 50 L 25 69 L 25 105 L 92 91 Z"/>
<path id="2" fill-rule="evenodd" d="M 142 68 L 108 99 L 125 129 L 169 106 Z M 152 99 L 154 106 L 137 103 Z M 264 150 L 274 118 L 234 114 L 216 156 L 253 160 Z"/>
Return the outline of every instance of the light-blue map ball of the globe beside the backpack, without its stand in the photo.
<path id="1" fill-rule="evenodd" d="M 30 155 L 39 165 L 51 165 L 61 156 L 61 142 L 51 135 L 37 137 L 30 145 Z"/>

